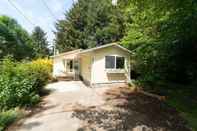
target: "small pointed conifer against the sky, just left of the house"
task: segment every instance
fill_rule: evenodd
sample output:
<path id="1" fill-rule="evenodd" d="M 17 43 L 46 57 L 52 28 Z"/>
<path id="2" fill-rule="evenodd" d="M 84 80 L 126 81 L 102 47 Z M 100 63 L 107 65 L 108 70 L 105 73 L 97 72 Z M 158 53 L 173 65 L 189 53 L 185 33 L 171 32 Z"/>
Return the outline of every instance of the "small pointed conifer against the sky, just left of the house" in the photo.
<path id="1" fill-rule="evenodd" d="M 47 41 L 46 33 L 39 27 L 35 27 L 32 33 L 33 47 L 36 57 L 49 56 L 49 43 Z"/>

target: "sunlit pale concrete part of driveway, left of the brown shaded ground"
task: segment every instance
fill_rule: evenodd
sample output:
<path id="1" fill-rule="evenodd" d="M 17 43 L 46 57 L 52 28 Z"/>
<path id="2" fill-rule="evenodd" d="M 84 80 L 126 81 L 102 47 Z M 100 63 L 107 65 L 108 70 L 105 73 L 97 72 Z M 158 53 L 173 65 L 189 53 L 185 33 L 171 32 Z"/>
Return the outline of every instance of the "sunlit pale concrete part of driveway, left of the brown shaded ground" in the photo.
<path id="1" fill-rule="evenodd" d="M 77 131 L 81 121 L 72 117 L 76 105 L 98 106 L 102 90 L 86 87 L 81 81 L 60 81 L 46 86 L 52 93 L 43 98 L 34 115 L 20 120 L 10 131 Z"/>

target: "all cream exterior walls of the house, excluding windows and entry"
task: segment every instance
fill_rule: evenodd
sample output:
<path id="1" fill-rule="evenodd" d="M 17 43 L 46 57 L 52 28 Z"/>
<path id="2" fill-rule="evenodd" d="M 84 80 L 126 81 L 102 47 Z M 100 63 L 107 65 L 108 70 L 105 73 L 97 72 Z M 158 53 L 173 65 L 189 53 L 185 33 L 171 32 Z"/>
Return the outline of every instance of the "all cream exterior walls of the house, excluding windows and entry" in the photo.
<path id="1" fill-rule="evenodd" d="M 122 73 L 108 73 L 105 69 L 105 56 L 125 57 Z M 116 46 L 98 49 L 81 55 L 62 55 L 53 58 L 53 76 L 65 76 L 64 59 L 79 58 L 79 74 L 86 84 L 105 84 L 128 82 L 130 80 L 130 54 Z"/>

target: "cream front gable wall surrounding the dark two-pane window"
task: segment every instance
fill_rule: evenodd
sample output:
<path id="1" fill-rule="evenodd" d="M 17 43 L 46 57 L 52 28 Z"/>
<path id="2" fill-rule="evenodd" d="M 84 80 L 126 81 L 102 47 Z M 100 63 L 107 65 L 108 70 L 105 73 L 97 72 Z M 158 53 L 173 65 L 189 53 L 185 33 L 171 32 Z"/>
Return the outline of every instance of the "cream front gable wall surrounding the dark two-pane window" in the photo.
<path id="1" fill-rule="evenodd" d="M 114 55 L 125 57 L 125 73 L 107 73 L 105 56 Z M 118 47 L 107 47 L 94 52 L 92 63 L 92 84 L 128 82 L 130 80 L 130 55 Z"/>

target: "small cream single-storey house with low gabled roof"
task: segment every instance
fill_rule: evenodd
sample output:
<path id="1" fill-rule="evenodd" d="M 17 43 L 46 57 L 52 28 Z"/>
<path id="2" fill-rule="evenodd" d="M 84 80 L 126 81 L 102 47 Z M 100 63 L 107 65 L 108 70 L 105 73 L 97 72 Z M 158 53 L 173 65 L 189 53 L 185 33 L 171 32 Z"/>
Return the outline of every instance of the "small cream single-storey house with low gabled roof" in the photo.
<path id="1" fill-rule="evenodd" d="M 88 85 L 130 81 L 130 53 L 112 43 L 53 56 L 53 76 L 82 79 Z"/>

